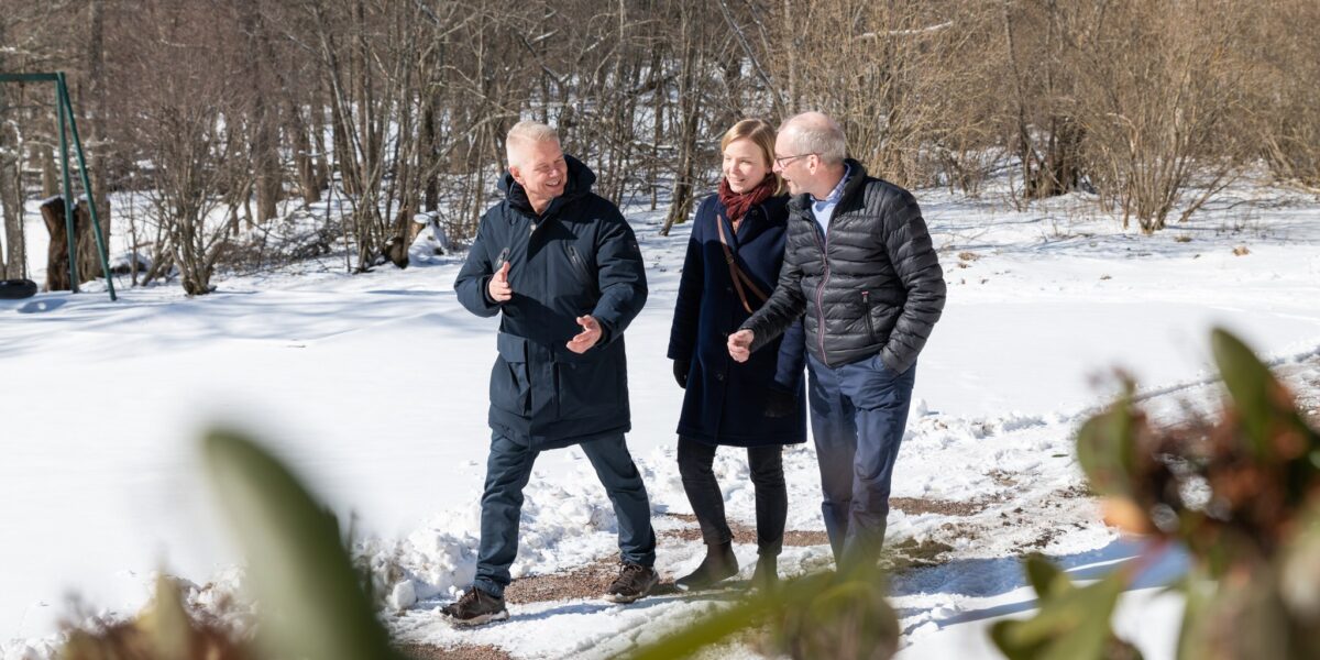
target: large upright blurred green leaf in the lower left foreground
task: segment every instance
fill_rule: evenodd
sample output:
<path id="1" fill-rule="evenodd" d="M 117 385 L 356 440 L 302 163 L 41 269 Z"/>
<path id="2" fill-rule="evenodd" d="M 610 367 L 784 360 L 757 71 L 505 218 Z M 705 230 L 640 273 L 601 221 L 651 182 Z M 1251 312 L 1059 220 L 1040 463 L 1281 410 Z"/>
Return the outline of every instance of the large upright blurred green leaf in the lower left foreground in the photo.
<path id="1" fill-rule="evenodd" d="M 248 558 L 260 643 L 273 657 L 399 657 L 376 620 L 338 524 L 271 454 L 240 433 L 213 430 L 207 473 Z"/>

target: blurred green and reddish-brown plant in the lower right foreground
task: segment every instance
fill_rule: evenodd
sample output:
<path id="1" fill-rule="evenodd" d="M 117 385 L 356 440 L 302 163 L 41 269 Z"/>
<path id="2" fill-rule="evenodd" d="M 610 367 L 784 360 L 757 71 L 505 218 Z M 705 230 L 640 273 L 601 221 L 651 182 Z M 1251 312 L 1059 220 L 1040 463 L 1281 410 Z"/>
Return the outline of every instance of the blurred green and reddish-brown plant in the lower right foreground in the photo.
<path id="1" fill-rule="evenodd" d="M 1187 599 L 1180 660 L 1320 657 L 1320 434 L 1242 341 L 1214 330 L 1210 342 L 1229 395 L 1217 424 L 1155 426 L 1129 381 L 1081 428 L 1078 461 L 1106 521 L 1154 543 L 1085 587 L 1028 560 L 1039 612 L 991 630 L 1010 659 L 1139 657 L 1114 638 L 1110 614 L 1175 545 L 1191 557 L 1171 587 Z"/>

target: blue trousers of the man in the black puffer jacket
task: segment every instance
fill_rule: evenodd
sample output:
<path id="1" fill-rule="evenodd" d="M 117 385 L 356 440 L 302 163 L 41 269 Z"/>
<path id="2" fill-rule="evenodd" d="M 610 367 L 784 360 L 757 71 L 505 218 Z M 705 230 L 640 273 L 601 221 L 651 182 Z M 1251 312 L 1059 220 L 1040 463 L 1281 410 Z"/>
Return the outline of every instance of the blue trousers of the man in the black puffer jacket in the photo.
<path id="1" fill-rule="evenodd" d="M 874 560 L 884 545 L 916 366 L 895 374 L 879 354 L 837 368 L 808 358 L 812 436 L 825 494 L 821 513 L 834 562 Z"/>

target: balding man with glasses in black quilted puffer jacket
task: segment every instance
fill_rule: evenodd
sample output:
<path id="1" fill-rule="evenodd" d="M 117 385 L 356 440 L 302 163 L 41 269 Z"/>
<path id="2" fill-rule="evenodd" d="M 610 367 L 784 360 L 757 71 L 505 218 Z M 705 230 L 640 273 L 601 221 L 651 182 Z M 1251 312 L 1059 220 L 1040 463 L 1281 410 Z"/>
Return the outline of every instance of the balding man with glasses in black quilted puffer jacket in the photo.
<path id="1" fill-rule="evenodd" d="M 729 354 L 746 360 L 805 313 L 825 531 L 837 564 L 874 560 L 944 272 L 916 199 L 845 158 L 828 116 L 785 121 L 775 152 L 793 194 L 784 267 L 770 300 L 729 337 Z"/>

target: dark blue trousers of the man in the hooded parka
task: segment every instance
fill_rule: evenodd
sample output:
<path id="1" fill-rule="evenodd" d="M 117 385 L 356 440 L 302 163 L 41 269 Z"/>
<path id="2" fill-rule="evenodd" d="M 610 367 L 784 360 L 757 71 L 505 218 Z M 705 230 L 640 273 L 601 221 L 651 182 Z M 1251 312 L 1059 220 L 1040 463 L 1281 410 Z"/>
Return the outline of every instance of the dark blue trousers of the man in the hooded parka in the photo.
<path id="1" fill-rule="evenodd" d="M 652 566 L 656 561 L 656 536 L 651 529 L 651 502 L 642 483 L 642 474 L 632 463 L 623 434 L 578 445 L 595 467 L 605 486 L 614 515 L 619 520 L 619 552 L 627 564 Z M 517 556 L 517 525 L 523 516 L 523 488 L 532 477 L 532 465 L 540 451 L 525 441 L 491 437 L 486 458 L 486 491 L 482 495 L 482 541 L 477 553 L 475 586 L 487 594 L 503 597 L 510 583 L 508 568 Z"/>

